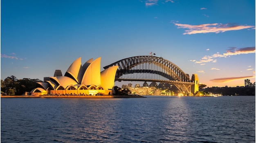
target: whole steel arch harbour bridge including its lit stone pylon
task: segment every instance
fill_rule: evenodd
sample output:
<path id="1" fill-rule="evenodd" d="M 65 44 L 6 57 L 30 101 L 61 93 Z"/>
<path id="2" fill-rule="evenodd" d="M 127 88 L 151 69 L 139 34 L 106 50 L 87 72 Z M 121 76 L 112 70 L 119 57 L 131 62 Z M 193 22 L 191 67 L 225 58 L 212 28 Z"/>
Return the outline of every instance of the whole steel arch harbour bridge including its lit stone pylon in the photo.
<path id="1" fill-rule="evenodd" d="M 157 56 L 133 56 L 124 58 L 115 63 L 103 67 L 107 69 L 118 65 L 115 81 L 144 81 L 173 84 L 184 93 L 198 91 L 199 82 L 197 74 L 189 78 L 177 65 L 162 57 Z"/>

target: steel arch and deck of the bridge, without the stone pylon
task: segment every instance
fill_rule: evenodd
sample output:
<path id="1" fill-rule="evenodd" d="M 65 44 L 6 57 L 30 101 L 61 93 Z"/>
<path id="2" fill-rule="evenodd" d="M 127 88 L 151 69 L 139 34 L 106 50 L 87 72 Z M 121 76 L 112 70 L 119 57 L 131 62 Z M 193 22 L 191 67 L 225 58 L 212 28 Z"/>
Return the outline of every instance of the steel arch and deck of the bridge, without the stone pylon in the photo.
<path id="1" fill-rule="evenodd" d="M 155 64 L 161 68 L 160 70 L 150 69 L 149 66 L 143 66 L 144 63 Z M 132 69 L 137 65 L 142 64 L 142 69 Z M 158 74 L 167 78 L 168 80 L 162 80 L 162 82 L 172 83 L 174 84 L 180 91 L 184 91 L 186 93 L 191 93 L 191 85 L 194 85 L 193 81 L 189 78 L 188 74 L 185 74 L 182 69 L 180 69 L 177 65 L 168 61 L 162 57 L 157 56 L 132 56 L 129 58 L 121 59 L 115 63 L 107 65 L 103 67 L 107 69 L 113 65 L 118 65 L 119 68 L 116 72 L 115 81 L 121 80 L 130 80 L 130 81 L 139 81 L 139 79 L 124 79 L 120 78 L 120 76 L 124 74 L 133 74 L 133 73 L 150 73 L 150 74 Z M 161 71 L 162 69 L 162 71 Z M 152 79 L 141 79 L 140 81 L 153 81 Z M 161 82 L 161 81 L 159 81 Z"/>

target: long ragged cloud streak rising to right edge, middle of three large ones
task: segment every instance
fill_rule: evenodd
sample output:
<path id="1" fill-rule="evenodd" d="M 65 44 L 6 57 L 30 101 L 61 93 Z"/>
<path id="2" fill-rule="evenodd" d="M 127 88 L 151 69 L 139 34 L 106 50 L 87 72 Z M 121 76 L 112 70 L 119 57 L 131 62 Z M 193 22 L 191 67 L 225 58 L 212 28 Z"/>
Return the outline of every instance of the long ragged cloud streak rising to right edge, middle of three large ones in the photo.
<path id="1" fill-rule="evenodd" d="M 217 59 L 214 58 L 221 58 L 221 57 L 228 57 L 228 56 L 234 56 L 238 54 L 252 54 L 255 53 L 255 47 L 246 47 L 246 48 L 229 48 L 229 50 L 226 51 L 226 53 L 220 54 L 217 52 L 216 54 L 212 54 L 211 56 L 204 56 L 200 59 L 200 61 L 190 60 L 195 63 L 216 63 Z"/>

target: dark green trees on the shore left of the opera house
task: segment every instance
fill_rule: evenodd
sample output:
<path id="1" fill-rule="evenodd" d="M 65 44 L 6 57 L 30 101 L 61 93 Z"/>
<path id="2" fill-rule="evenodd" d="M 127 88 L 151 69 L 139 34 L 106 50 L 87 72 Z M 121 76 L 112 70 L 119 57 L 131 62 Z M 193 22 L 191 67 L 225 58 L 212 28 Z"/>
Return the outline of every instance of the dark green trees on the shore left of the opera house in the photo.
<path id="1" fill-rule="evenodd" d="M 1 94 L 6 95 L 23 95 L 36 88 L 36 82 L 43 82 L 39 79 L 23 78 L 18 80 L 15 76 L 8 76 L 1 79 Z"/>

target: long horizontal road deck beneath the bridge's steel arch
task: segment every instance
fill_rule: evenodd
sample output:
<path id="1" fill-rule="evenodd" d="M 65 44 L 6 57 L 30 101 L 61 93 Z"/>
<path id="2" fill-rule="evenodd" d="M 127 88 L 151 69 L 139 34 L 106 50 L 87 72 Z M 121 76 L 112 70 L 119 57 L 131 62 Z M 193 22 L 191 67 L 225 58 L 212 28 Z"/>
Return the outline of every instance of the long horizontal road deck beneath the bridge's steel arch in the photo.
<path id="1" fill-rule="evenodd" d="M 146 81 L 146 82 L 161 82 L 161 83 L 171 83 L 171 84 L 180 84 L 180 85 L 195 85 L 194 82 L 184 82 L 176 80 L 157 80 L 157 79 L 132 79 L 132 78 L 117 78 L 115 81 Z"/>

